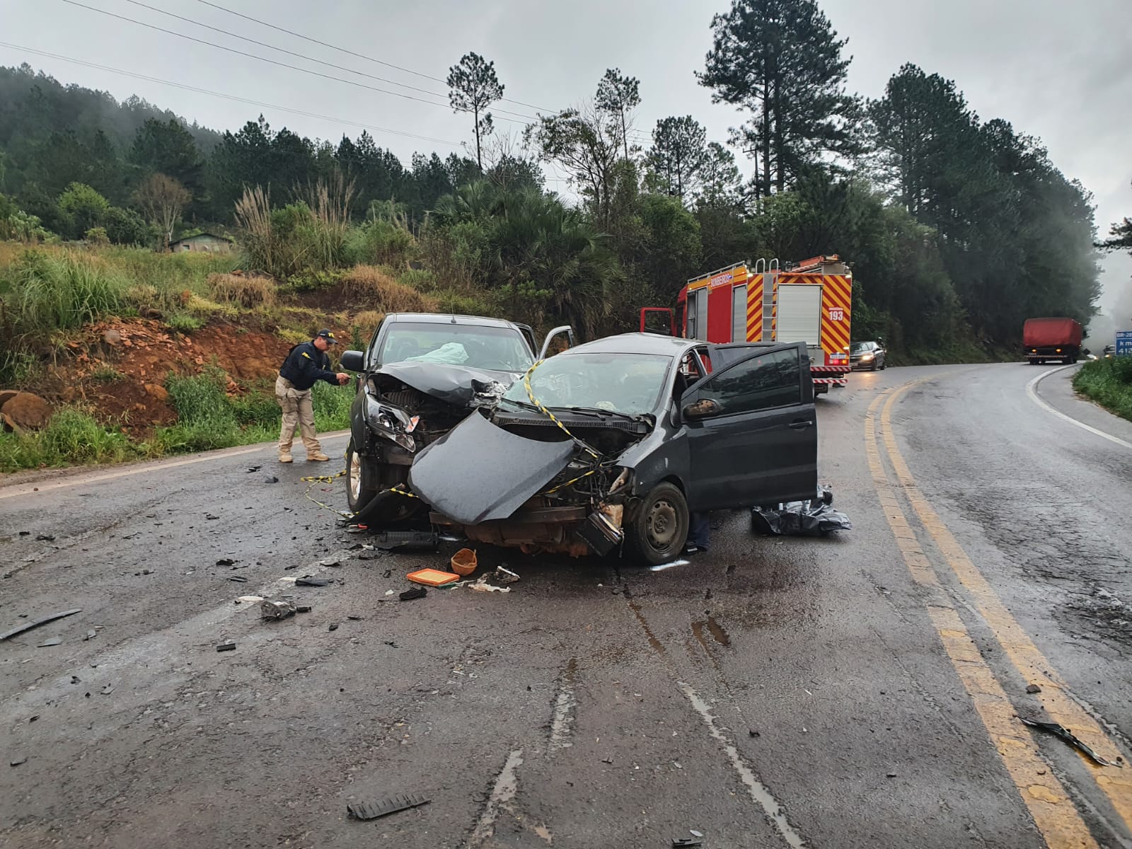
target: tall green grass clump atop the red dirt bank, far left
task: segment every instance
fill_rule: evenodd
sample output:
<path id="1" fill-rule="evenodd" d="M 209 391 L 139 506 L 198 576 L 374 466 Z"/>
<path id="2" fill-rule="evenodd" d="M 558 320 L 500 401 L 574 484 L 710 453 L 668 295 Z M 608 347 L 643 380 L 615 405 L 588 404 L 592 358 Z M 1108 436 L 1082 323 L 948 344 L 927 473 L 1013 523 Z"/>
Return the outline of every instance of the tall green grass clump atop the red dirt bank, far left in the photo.
<path id="1" fill-rule="evenodd" d="M 29 250 L 12 273 L 17 324 L 25 333 L 72 329 L 119 311 L 129 281 L 104 259 L 72 250 Z"/>

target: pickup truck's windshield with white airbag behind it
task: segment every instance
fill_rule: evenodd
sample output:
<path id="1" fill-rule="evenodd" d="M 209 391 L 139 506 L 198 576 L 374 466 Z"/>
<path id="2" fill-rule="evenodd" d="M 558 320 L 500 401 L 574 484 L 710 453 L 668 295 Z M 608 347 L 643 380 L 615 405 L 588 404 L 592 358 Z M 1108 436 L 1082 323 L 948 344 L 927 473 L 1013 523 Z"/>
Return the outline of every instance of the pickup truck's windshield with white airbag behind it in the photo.
<path id="1" fill-rule="evenodd" d="M 385 334 L 378 362 L 434 362 L 489 371 L 525 371 L 531 354 L 518 331 L 466 324 L 397 321 Z"/>

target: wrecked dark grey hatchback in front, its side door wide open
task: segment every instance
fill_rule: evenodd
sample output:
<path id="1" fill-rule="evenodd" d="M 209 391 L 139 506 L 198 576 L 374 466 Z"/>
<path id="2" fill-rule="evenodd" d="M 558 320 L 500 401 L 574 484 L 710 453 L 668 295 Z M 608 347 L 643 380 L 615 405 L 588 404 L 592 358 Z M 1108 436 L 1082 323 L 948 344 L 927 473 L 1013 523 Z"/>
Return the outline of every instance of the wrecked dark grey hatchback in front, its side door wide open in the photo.
<path id="1" fill-rule="evenodd" d="M 689 507 L 775 505 L 816 490 L 804 344 L 625 334 L 572 348 L 474 401 L 411 457 L 404 489 L 432 524 L 471 540 L 572 555 L 624 547 L 659 565 L 681 551 Z"/>

